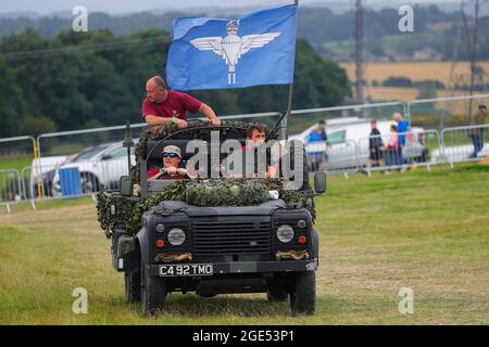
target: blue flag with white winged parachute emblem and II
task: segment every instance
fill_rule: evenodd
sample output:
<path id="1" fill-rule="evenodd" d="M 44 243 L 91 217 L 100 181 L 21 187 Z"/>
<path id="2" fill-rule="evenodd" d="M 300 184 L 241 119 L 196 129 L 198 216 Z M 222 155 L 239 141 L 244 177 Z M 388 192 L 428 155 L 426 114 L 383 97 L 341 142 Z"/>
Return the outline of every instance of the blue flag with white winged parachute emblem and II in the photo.
<path id="1" fill-rule="evenodd" d="M 166 63 L 175 90 L 293 81 L 297 5 L 240 18 L 176 18 Z"/>

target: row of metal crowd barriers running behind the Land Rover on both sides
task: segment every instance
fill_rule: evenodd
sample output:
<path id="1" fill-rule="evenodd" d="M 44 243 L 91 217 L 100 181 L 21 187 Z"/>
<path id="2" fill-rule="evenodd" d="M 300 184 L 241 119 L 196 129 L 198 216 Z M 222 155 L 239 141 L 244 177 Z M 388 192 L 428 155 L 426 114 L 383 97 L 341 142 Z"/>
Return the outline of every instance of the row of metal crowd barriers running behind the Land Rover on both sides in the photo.
<path id="1" fill-rule="evenodd" d="M 461 162 L 476 160 L 489 155 L 487 145 L 489 125 L 452 126 L 471 124 L 472 113 L 477 105 L 487 104 L 489 94 L 473 97 L 451 97 L 415 100 L 408 104 L 402 102 L 387 102 L 363 105 L 349 105 L 338 107 L 322 107 L 309 110 L 293 110 L 291 117 L 284 118 L 281 124 L 281 138 L 298 133 L 290 138 L 305 140 L 304 132 L 313 129 L 318 120 L 325 119 L 328 126 L 327 142 L 306 143 L 306 151 L 311 164 L 311 171 L 327 171 L 328 174 L 348 174 L 364 171 L 369 175 L 372 170 L 403 170 L 406 167 L 425 166 L 448 163 L 454 165 Z M 399 112 L 411 120 L 411 124 L 435 129 L 412 128 L 406 133 L 404 144 L 397 151 L 383 146 L 372 152 L 371 142 L 376 137 L 363 136 L 356 138 L 339 137 L 334 130 L 341 125 L 369 119 L 390 119 L 392 114 Z M 220 117 L 223 120 L 247 119 L 273 125 L 280 113 L 256 113 L 246 115 L 230 115 Z M 349 117 L 346 119 L 344 117 Z M 329 120 L 328 119 L 333 119 Z M 205 119 L 205 118 L 198 118 Z M 435 119 L 435 120 L 434 120 Z M 389 120 L 390 121 L 390 120 Z M 133 125 L 133 137 L 139 137 L 146 124 Z M 41 134 L 35 140 L 33 137 L 15 137 L 0 139 L 0 160 L 4 159 L 0 171 L 1 203 L 10 210 L 10 206 L 18 201 L 30 201 L 35 207 L 37 198 L 63 198 L 90 195 L 102 185 L 117 189 L 118 178 L 127 175 L 127 150 L 122 147 L 125 126 L 86 129 L 77 131 L 63 131 Z M 301 131 L 303 131 L 301 133 Z M 302 136 L 302 138 L 301 138 Z M 383 131 L 378 139 L 388 143 L 391 134 Z M 117 146 L 118 143 L 118 146 Z M 112 145 L 112 147 L 111 147 Z M 90 149 L 108 150 L 99 157 L 89 157 Z M 111 151 L 113 150 L 113 152 Z M 103 152 L 103 151 L 102 151 Z M 74 159 L 64 164 L 67 157 L 87 154 L 86 158 Z M 36 158 L 42 155 L 41 159 Z M 21 160 L 15 167 L 5 167 L 10 157 Z M 7 158 L 7 159 L 5 159 Z M 134 160 L 134 156 L 133 156 Z M 1 163 L 1 162 L 0 162 Z M 25 167 L 21 168 L 21 164 Z M 28 166 L 27 166 L 28 165 Z M 70 169 L 78 170 L 78 180 L 66 182 Z M 64 178 L 64 179 L 63 179 Z"/>

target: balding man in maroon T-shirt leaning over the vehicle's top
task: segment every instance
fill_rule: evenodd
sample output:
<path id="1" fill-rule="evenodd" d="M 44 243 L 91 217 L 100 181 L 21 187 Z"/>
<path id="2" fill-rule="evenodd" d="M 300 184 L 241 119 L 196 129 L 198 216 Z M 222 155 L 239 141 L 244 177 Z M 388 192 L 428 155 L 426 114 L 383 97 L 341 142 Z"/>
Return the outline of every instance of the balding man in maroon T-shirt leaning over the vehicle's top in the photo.
<path id="1" fill-rule="evenodd" d="M 149 126 L 175 123 L 178 129 L 184 129 L 187 127 L 187 112 L 193 114 L 200 112 L 212 125 L 221 125 L 211 107 L 189 94 L 167 90 L 162 77 L 153 76 L 148 80 L 146 98 L 142 101 L 142 118 Z"/>

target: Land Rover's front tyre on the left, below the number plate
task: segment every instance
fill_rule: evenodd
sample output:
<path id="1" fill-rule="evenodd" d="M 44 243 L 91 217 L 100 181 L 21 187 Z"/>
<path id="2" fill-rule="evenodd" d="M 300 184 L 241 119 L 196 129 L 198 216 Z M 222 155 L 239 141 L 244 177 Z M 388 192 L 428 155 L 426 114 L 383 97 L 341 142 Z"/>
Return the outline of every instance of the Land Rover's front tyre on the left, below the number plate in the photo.
<path id="1" fill-rule="evenodd" d="M 165 308 L 165 279 L 148 275 L 148 270 L 141 264 L 141 305 L 145 314 L 158 316 Z"/>

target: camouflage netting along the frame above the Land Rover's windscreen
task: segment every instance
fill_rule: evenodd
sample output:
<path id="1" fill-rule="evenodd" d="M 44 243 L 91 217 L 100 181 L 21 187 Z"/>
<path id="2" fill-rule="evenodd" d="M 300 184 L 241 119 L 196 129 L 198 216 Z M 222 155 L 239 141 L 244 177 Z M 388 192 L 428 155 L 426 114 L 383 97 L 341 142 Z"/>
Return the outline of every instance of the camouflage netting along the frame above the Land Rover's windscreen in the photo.
<path id="1" fill-rule="evenodd" d="M 246 138 L 247 130 L 251 125 L 256 125 L 258 123 L 248 123 L 248 121 L 231 121 L 231 120 L 223 120 L 221 121 L 221 126 L 214 127 L 211 126 L 206 120 L 192 119 L 187 123 L 187 128 L 185 130 L 178 129 L 176 124 L 172 124 L 170 126 L 161 126 L 152 128 L 146 132 L 143 132 L 139 139 L 139 142 L 136 143 L 136 166 L 131 167 L 130 176 L 133 178 L 133 182 L 139 183 L 139 163 L 140 160 L 146 159 L 147 151 L 146 144 L 148 140 L 163 140 L 168 134 L 172 136 L 172 139 L 186 139 L 186 140 L 202 140 L 210 141 L 211 140 L 211 131 L 220 131 L 220 139 L 224 141 L 225 139 L 233 138 Z M 265 126 L 261 124 L 262 126 Z M 265 126 L 266 128 L 266 126 Z M 268 130 L 267 130 L 268 131 Z M 272 139 L 277 139 L 277 134 L 272 137 Z"/>

